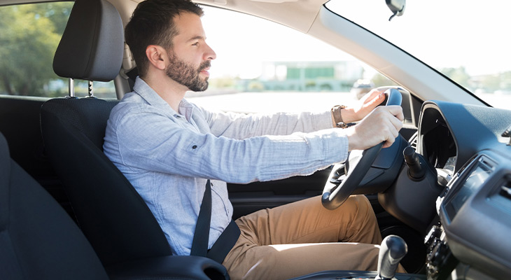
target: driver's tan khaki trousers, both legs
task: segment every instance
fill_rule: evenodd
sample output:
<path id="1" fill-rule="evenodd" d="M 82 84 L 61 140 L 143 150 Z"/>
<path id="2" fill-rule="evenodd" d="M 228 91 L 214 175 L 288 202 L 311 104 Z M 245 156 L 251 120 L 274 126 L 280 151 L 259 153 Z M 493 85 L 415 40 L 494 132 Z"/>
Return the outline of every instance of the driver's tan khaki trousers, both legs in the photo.
<path id="1" fill-rule="evenodd" d="M 290 279 L 323 270 L 377 270 L 381 235 L 367 198 L 330 211 L 321 197 L 236 220 L 241 235 L 223 261 L 231 279 Z M 399 269 L 401 272 L 402 267 Z"/>

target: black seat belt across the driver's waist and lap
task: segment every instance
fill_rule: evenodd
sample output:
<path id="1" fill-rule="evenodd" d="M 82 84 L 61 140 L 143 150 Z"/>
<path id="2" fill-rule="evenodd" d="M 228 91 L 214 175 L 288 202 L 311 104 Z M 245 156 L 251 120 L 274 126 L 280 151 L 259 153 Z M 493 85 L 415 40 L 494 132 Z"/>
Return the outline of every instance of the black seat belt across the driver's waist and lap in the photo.
<path id="1" fill-rule="evenodd" d="M 231 221 L 227 228 L 216 239 L 215 244 L 208 250 L 209 228 L 211 225 L 211 181 L 206 182 L 206 190 L 202 197 L 197 225 L 193 233 L 192 250 L 190 255 L 199 255 L 211 258 L 218 263 L 222 263 L 225 256 L 230 252 L 236 241 L 238 241 L 241 231 L 235 221 Z"/>

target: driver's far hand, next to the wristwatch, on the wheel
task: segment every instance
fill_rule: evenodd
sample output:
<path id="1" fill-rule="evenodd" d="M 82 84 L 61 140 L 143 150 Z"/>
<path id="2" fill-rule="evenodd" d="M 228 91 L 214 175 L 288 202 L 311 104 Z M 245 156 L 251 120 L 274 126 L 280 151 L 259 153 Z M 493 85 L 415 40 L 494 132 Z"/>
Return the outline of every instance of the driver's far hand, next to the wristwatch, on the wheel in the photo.
<path id="1" fill-rule="evenodd" d="M 342 120 L 344 120 L 344 123 L 358 122 L 358 120 L 365 118 L 368 113 L 371 113 L 381 102 L 384 102 L 384 100 L 385 94 L 383 92 L 371 90 L 358 101 L 356 106 L 342 109 Z"/>

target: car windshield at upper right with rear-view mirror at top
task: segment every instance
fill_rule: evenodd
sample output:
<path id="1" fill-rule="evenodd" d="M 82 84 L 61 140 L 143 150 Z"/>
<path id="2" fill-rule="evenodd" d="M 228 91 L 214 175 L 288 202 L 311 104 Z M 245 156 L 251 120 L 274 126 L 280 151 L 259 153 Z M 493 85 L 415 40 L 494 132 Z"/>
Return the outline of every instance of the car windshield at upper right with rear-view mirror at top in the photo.
<path id="1" fill-rule="evenodd" d="M 491 106 L 511 109 L 507 28 L 511 1 L 407 1 L 391 21 L 384 0 L 331 0 L 326 7 L 440 71 Z"/>

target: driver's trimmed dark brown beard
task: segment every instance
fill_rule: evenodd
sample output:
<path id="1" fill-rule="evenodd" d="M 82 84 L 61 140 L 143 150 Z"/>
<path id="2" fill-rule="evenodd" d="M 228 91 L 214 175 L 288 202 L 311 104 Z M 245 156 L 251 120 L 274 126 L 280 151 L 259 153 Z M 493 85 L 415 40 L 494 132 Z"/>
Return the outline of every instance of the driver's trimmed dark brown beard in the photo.
<path id="1" fill-rule="evenodd" d="M 167 73 L 169 78 L 172 78 L 172 80 L 188 87 L 189 90 L 194 92 L 203 92 L 204 90 L 207 90 L 209 77 L 202 80 L 200 78 L 200 71 L 211 66 L 211 62 L 209 60 L 202 62 L 199 67 L 195 68 L 193 65 L 179 59 L 172 50 L 167 52 L 167 54 L 169 55 L 171 63 L 165 69 L 165 73 Z"/>

